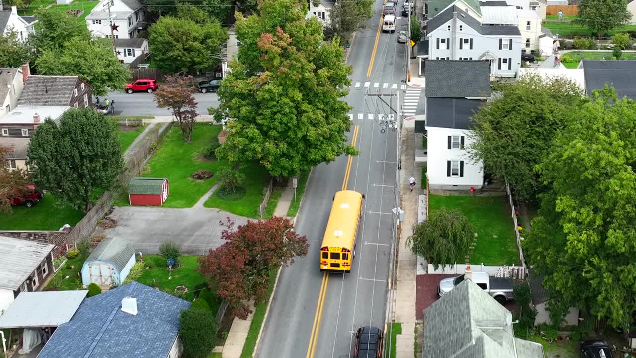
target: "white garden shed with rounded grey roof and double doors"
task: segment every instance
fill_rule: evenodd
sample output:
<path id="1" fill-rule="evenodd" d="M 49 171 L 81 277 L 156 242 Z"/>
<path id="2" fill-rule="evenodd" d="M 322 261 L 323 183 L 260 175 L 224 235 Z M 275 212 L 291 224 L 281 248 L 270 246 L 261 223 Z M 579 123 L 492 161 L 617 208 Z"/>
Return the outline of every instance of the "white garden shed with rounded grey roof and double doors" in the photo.
<path id="1" fill-rule="evenodd" d="M 97 245 L 81 269 L 84 285 L 121 285 L 135 264 L 135 247 L 122 238 L 107 238 Z"/>

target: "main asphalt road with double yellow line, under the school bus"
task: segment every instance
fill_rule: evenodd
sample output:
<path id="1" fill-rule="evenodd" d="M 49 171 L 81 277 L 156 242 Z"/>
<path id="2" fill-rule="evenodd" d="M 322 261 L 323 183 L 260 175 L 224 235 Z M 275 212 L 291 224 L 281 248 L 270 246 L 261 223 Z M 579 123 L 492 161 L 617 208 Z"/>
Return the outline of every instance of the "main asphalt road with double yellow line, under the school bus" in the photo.
<path id="1" fill-rule="evenodd" d="M 367 22 L 366 29 L 357 32 L 348 59 L 353 74 L 346 101 L 354 107 L 350 112 L 349 137 L 358 126 L 359 155 L 352 161 L 347 189 L 366 196 L 352 272 L 328 274 L 325 279 L 319 271 L 319 247 L 332 204 L 329 199 L 342 189 L 347 167 L 347 157 L 343 156 L 312 171 L 296 221 L 296 231 L 307 235 L 309 254 L 282 269 L 256 357 L 352 357 L 352 333 L 358 327 L 384 327 L 396 182 L 396 132 L 380 133 L 378 115 L 391 112 L 379 97 L 365 93 L 404 95 L 405 46 L 397 43 L 397 32 L 407 26 L 406 19 L 400 19 L 396 32 L 378 35 L 381 0 L 376 1 L 375 9 L 377 15 Z M 371 59 L 373 68 L 369 70 Z M 383 98 L 396 106 L 395 98 Z M 325 281 L 324 300 L 319 303 L 321 284 Z M 315 352 L 309 353 L 312 336 L 316 337 Z"/>

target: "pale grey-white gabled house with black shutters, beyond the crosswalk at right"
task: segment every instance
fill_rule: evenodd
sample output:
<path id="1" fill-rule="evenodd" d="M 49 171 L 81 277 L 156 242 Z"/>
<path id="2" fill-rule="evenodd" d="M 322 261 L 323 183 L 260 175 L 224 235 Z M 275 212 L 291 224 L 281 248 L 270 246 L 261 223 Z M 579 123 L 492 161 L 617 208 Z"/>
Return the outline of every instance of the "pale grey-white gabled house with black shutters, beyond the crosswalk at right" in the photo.
<path id="1" fill-rule="evenodd" d="M 482 25 L 457 6 L 429 20 L 426 38 L 430 60 L 487 60 L 490 75 L 501 77 L 515 76 L 521 64 L 518 27 Z"/>

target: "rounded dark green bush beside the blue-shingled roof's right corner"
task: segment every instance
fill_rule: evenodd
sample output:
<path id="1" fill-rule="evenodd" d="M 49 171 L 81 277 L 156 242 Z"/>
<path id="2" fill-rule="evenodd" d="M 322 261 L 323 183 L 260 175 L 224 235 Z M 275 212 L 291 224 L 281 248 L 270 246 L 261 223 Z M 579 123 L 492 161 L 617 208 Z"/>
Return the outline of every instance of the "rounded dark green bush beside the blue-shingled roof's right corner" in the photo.
<path id="1" fill-rule="evenodd" d="M 184 357 L 207 357 L 216 343 L 217 329 L 214 312 L 197 310 L 197 308 L 181 311 L 179 336 L 183 341 Z"/>

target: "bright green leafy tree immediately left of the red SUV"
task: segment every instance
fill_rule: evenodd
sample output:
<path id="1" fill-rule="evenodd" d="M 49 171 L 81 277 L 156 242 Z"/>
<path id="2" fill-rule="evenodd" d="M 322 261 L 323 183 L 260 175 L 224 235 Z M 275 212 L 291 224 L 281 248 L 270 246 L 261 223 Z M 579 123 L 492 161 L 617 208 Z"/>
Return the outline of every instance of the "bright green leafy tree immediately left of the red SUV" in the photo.
<path id="1" fill-rule="evenodd" d="M 44 50 L 38 59 L 38 73 L 80 76 L 90 83 L 95 96 L 123 89 L 130 80 L 130 70 L 113 54 L 113 43 L 102 38 L 86 41 L 77 37 L 60 49 Z"/>

